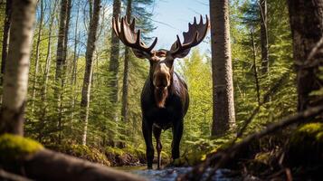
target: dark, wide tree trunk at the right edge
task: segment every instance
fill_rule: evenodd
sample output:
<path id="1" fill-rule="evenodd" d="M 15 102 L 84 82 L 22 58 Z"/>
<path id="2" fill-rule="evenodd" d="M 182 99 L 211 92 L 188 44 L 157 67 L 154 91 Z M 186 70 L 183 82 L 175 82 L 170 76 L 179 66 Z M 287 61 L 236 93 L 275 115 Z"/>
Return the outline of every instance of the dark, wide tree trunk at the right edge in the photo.
<path id="1" fill-rule="evenodd" d="M 298 110 L 322 104 L 322 96 L 310 95 L 322 88 L 318 70 L 323 62 L 323 1 L 288 0 L 293 56 L 297 70 Z"/>

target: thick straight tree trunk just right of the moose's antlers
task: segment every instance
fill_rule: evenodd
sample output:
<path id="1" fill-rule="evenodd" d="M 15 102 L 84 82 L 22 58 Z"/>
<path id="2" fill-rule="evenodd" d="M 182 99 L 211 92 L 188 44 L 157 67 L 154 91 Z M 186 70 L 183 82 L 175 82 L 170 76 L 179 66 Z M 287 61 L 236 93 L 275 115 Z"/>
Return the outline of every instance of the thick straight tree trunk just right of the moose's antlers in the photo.
<path id="1" fill-rule="evenodd" d="M 212 136 L 221 136 L 235 125 L 229 1 L 210 0 L 210 17 L 214 96 Z"/>

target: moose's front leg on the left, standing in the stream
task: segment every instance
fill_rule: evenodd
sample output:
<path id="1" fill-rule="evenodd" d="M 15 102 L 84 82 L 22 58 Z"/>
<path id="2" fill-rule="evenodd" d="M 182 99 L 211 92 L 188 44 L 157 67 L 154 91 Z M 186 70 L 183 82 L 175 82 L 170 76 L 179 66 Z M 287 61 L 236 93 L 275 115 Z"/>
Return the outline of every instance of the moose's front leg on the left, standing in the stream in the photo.
<path id="1" fill-rule="evenodd" d="M 152 142 L 152 124 L 148 123 L 146 119 L 142 121 L 142 132 L 144 134 L 146 143 L 146 157 L 147 157 L 147 168 L 153 168 L 154 159 L 154 146 Z"/>

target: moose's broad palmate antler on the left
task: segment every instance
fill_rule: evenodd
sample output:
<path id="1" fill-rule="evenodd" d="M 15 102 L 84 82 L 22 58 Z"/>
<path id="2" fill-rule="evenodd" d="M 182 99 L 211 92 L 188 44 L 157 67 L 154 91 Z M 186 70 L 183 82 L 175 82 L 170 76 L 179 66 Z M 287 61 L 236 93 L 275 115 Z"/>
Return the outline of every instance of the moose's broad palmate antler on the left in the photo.
<path id="1" fill-rule="evenodd" d="M 112 26 L 114 33 L 117 34 L 119 39 L 130 48 L 136 49 L 138 52 L 145 52 L 147 55 L 153 54 L 153 49 L 157 43 L 157 38 L 155 38 L 154 42 L 147 47 L 145 43 L 140 40 L 140 30 L 135 32 L 135 18 L 132 20 L 131 24 L 127 23 L 127 17 L 124 16 L 119 18 L 112 18 Z"/>

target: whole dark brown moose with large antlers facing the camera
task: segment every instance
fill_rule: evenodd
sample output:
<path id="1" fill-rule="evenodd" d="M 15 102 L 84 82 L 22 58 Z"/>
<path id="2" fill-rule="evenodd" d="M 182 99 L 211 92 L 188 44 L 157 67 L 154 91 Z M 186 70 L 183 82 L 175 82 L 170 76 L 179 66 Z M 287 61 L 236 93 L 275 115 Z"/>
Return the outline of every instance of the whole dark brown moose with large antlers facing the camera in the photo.
<path id="1" fill-rule="evenodd" d="M 193 24 L 188 24 L 188 32 L 184 32 L 184 42 L 177 35 L 176 42 L 170 50 L 153 50 L 157 37 L 150 46 L 140 40 L 140 30 L 135 31 L 135 18 L 128 24 L 128 17 L 112 19 L 114 33 L 122 43 L 132 49 L 140 58 L 150 62 L 149 75 L 141 92 L 142 132 L 146 143 L 147 168 L 151 169 L 154 159 L 152 134 L 157 141 L 157 168 L 161 165 L 160 135 L 162 129 L 172 128 L 172 158 L 179 157 L 179 144 L 183 135 L 184 117 L 189 105 L 187 85 L 174 71 L 176 58 L 184 58 L 190 49 L 204 40 L 209 29 L 206 15 L 204 24 L 201 15 L 199 24 L 194 18 Z"/>

